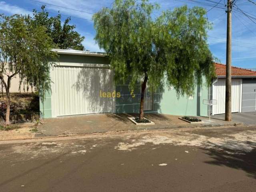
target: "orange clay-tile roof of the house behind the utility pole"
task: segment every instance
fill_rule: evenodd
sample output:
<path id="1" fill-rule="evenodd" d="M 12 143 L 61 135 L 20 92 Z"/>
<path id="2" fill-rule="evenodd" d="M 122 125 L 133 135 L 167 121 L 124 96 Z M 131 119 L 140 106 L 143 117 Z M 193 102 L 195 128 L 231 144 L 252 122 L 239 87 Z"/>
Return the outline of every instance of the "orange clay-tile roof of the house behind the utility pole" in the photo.
<path id="1" fill-rule="evenodd" d="M 226 65 L 215 63 L 215 70 L 217 76 L 226 76 Z M 239 67 L 231 67 L 231 76 L 256 76 L 256 71 L 239 68 Z"/>

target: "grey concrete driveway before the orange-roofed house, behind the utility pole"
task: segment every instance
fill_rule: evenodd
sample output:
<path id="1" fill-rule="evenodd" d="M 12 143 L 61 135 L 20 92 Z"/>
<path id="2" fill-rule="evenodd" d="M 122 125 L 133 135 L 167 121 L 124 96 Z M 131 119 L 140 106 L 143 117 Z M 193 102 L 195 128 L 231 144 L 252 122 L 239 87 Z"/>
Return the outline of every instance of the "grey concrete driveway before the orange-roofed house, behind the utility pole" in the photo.
<path id="1" fill-rule="evenodd" d="M 225 120 L 225 114 L 214 115 L 212 118 Z M 255 125 L 256 112 L 232 113 L 232 121 L 242 122 L 244 125 Z"/>

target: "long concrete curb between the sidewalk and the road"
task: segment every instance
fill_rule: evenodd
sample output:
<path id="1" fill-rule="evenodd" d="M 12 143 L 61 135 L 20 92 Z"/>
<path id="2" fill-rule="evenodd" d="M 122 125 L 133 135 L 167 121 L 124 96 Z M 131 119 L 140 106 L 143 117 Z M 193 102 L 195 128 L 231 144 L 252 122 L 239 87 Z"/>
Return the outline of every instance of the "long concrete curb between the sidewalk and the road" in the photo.
<path id="1" fill-rule="evenodd" d="M 142 132 L 180 132 L 180 131 L 190 131 L 190 130 L 205 130 L 205 129 L 221 129 L 221 128 L 236 128 L 236 127 L 250 127 L 256 126 L 252 125 L 240 125 L 240 126 L 212 126 L 212 127 L 197 127 L 197 128 L 174 128 L 174 129 L 154 129 L 154 130 L 120 130 L 120 131 L 106 131 L 106 132 L 92 132 L 85 134 L 75 134 L 75 135 L 65 135 L 65 136 L 44 136 L 44 137 L 34 137 L 34 138 L 24 138 L 24 139 L 13 139 L 13 140 L 0 140 L 0 144 L 12 144 L 12 143 L 23 143 L 23 142 L 41 142 L 42 140 L 72 140 L 79 138 L 93 138 L 96 136 L 108 136 L 108 135 L 119 135 L 128 133 L 142 133 Z"/>

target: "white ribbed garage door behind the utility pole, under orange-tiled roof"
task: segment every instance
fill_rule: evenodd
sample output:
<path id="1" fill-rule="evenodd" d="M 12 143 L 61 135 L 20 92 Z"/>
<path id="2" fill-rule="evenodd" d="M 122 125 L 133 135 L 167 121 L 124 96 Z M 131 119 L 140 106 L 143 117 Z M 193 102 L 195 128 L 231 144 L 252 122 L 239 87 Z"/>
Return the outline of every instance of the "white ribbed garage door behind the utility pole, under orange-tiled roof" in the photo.
<path id="1" fill-rule="evenodd" d="M 241 110 L 241 79 L 232 79 L 231 88 L 231 111 L 240 112 Z M 225 98 L 226 98 L 226 79 L 218 79 L 213 85 L 212 99 L 217 100 L 217 104 L 212 106 L 212 114 L 223 114 L 225 113 Z"/>

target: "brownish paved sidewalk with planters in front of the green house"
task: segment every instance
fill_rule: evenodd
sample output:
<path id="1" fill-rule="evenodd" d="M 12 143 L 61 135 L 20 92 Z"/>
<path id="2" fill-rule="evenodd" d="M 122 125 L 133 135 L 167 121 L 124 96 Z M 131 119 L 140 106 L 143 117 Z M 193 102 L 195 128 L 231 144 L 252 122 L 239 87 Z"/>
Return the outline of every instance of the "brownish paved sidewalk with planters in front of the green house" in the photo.
<path id="1" fill-rule="evenodd" d="M 37 137 L 42 136 L 69 136 L 76 134 L 89 134 L 94 132 L 110 132 L 124 130 L 162 130 L 177 128 L 198 128 L 215 126 L 234 126 L 239 122 L 226 122 L 224 120 L 199 117 L 204 123 L 190 124 L 178 119 L 181 116 L 166 114 L 145 114 L 145 117 L 155 125 L 136 126 L 128 117 L 136 114 L 93 114 L 41 120 L 38 126 Z"/>

